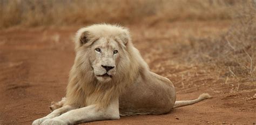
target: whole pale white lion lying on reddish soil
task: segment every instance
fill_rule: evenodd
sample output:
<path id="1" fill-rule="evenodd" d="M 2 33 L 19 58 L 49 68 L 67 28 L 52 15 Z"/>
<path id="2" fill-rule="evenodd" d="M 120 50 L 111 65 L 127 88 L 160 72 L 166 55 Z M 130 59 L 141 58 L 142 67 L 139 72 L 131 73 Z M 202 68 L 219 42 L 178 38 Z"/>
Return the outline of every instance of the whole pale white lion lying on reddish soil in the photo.
<path id="1" fill-rule="evenodd" d="M 211 97 L 204 93 L 195 100 L 176 101 L 172 82 L 150 71 L 133 46 L 129 30 L 122 26 L 94 24 L 79 29 L 75 52 L 65 98 L 53 102 L 53 112 L 32 124 L 160 115 Z"/>

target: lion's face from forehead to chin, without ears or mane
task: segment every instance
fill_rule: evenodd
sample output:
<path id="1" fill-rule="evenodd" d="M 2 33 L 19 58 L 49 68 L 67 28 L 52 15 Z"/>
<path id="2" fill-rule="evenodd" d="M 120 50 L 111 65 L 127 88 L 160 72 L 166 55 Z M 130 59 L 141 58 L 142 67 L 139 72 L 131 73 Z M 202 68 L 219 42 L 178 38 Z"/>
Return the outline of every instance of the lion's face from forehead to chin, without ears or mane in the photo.
<path id="1" fill-rule="evenodd" d="M 101 82 L 110 81 L 116 74 L 119 59 L 118 43 L 113 39 L 100 38 L 90 47 L 90 62 L 95 77 Z"/>

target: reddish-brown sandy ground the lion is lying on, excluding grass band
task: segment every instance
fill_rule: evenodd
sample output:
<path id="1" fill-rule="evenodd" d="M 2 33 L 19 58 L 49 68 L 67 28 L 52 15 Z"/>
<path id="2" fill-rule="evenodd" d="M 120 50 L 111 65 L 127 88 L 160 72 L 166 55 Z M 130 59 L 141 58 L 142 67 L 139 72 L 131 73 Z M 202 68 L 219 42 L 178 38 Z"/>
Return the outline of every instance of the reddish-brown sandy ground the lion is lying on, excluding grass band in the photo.
<path id="1" fill-rule="evenodd" d="M 228 21 L 128 25 L 134 45 L 153 72 L 171 79 L 178 100 L 209 93 L 212 99 L 165 115 L 125 116 L 86 124 L 256 123 L 255 83 L 221 78 L 201 65 L 178 63 L 170 46 L 193 37 L 225 32 Z M 0 31 L 0 124 L 31 124 L 50 113 L 51 101 L 65 95 L 73 64 L 72 36 L 78 27 L 12 28 Z"/>

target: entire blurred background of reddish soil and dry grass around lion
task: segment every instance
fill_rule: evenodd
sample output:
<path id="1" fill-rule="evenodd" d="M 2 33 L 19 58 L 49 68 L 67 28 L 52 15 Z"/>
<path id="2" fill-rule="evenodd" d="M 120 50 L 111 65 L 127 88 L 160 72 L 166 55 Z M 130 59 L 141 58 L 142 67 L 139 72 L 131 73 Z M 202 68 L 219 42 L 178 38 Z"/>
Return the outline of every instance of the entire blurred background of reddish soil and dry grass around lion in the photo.
<path id="1" fill-rule="evenodd" d="M 214 98 L 165 116 L 91 124 L 255 123 L 255 18 L 255 0 L 0 0 L 0 124 L 49 114 L 65 95 L 75 32 L 95 23 L 128 27 L 178 100 Z"/>

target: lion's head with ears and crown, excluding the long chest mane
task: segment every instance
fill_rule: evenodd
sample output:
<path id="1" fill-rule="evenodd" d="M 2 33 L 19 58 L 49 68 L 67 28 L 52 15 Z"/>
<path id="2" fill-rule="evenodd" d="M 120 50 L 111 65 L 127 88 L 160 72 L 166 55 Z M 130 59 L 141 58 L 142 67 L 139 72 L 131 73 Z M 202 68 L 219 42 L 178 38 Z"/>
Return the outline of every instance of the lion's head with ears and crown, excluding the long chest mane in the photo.
<path id="1" fill-rule="evenodd" d="M 96 24 L 78 30 L 76 35 L 77 60 L 100 82 L 108 82 L 129 67 L 126 45 L 129 31 L 123 27 Z M 119 71 L 118 71 L 119 70 Z"/>

